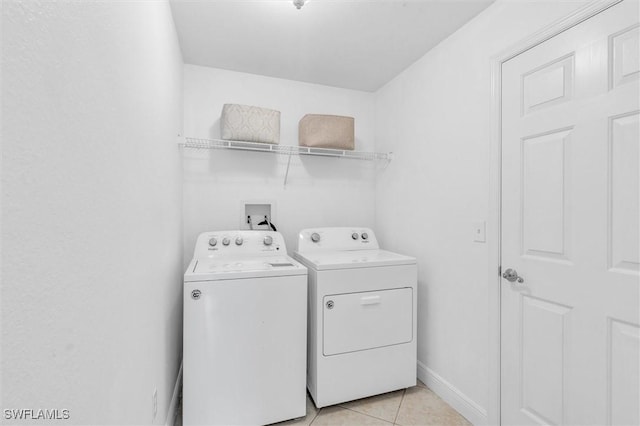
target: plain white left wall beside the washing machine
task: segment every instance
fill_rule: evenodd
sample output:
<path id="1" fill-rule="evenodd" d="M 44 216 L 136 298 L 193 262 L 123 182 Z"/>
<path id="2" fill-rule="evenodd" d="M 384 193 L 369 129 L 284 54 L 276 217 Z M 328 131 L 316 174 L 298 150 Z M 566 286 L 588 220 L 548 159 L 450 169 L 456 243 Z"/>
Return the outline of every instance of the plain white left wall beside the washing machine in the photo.
<path id="1" fill-rule="evenodd" d="M 149 424 L 157 387 L 163 424 L 183 272 L 169 5 L 10 0 L 2 26 L 0 406 Z"/>

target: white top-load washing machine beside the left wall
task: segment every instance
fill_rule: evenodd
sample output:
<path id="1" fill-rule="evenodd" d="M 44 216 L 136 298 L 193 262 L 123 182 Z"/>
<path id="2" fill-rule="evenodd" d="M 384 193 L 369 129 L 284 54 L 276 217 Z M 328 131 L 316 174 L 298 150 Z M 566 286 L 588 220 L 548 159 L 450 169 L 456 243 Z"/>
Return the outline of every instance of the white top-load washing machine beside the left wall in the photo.
<path id="1" fill-rule="evenodd" d="M 206 232 L 184 275 L 183 423 L 306 414 L 307 269 L 271 231 Z"/>

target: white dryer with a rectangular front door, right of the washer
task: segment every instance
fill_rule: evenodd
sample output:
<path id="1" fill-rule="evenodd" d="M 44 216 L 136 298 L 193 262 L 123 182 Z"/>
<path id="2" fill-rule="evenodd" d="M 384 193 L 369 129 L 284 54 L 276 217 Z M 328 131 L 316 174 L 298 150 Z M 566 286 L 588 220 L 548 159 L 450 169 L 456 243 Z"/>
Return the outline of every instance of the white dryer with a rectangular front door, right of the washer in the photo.
<path id="1" fill-rule="evenodd" d="M 307 387 L 317 407 L 416 384 L 415 258 L 380 250 L 368 228 L 305 229 Z"/>

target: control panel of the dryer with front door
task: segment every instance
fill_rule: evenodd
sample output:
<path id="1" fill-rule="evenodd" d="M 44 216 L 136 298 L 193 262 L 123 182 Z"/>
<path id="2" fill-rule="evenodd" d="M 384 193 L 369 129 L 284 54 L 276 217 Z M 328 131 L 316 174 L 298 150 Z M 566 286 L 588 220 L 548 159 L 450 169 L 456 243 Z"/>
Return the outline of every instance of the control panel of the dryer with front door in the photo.
<path id="1" fill-rule="evenodd" d="M 377 250 L 380 246 L 370 228 L 333 227 L 303 229 L 298 235 L 298 252 L 315 250 Z"/>

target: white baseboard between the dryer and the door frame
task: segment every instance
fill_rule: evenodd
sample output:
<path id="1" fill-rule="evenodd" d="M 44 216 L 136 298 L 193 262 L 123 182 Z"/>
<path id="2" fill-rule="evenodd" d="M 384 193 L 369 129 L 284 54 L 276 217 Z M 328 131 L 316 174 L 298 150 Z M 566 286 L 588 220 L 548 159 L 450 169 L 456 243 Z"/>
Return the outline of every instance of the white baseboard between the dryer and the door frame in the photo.
<path id="1" fill-rule="evenodd" d="M 474 425 L 488 423 L 487 410 L 420 361 L 418 361 L 418 379 Z"/>

